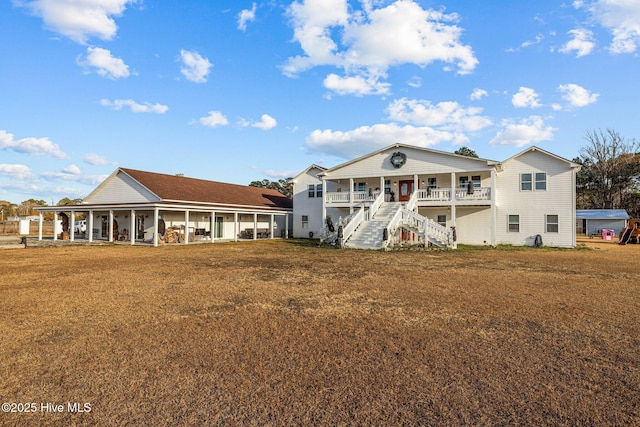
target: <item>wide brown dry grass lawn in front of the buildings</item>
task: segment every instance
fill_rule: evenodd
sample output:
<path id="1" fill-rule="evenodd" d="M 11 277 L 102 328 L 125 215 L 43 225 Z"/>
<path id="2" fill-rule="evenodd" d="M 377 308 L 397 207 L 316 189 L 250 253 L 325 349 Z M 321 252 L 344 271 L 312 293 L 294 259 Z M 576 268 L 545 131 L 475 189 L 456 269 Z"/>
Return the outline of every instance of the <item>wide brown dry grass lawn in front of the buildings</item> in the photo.
<path id="1" fill-rule="evenodd" d="M 0 424 L 639 425 L 640 245 L 587 244 L 2 250 Z"/>

